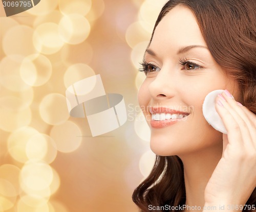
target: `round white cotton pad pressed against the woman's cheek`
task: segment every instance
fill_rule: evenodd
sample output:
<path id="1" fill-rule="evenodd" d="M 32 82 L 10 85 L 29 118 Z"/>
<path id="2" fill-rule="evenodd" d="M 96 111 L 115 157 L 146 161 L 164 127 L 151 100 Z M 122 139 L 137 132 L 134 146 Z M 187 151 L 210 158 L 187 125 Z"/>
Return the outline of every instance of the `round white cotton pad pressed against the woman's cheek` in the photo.
<path id="1" fill-rule="evenodd" d="M 206 121 L 216 130 L 227 134 L 227 130 L 221 120 L 220 115 L 215 109 L 215 99 L 216 97 L 223 93 L 224 90 L 214 90 L 208 93 L 204 99 L 203 103 L 203 115 Z"/>

